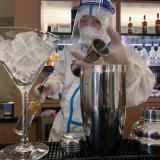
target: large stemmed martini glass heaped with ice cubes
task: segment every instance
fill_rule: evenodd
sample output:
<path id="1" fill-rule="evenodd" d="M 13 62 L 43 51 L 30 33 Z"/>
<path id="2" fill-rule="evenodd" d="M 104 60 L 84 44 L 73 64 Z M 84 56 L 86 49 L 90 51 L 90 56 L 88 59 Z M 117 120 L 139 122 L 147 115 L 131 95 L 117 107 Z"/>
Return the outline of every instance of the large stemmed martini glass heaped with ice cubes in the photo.
<path id="1" fill-rule="evenodd" d="M 22 100 L 21 141 L 2 149 L 0 153 L 7 160 L 40 159 L 48 153 L 49 148 L 43 143 L 31 143 L 28 139 L 28 94 L 58 37 L 25 27 L 0 27 L 0 34 L 0 63 L 19 89 Z"/>

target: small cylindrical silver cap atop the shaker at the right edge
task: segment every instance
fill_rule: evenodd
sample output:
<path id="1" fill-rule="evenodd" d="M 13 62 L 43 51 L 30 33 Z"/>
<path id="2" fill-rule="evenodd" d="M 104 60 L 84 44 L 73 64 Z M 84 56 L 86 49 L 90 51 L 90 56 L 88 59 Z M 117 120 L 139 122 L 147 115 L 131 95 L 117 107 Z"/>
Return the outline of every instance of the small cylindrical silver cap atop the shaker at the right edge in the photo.
<path id="1" fill-rule="evenodd" d="M 142 118 L 147 121 L 160 121 L 160 107 L 144 107 Z"/>

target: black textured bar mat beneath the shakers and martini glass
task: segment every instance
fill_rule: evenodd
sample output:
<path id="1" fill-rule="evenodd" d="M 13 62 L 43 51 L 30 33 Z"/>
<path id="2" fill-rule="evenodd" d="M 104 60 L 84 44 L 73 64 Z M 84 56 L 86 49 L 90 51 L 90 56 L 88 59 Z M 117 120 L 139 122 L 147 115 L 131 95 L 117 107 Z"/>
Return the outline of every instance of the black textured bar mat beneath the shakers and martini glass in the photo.
<path id="1" fill-rule="evenodd" d="M 64 153 L 59 142 L 44 142 L 49 147 L 49 153 L 41 158 L 45 160 L 159 160 L 160 154 L 148 154 L 140 151 L 138 145 L 132 140 L 122 140 L 120 146 L 113 152 L 105 150 L 101 152 L 93 152 L 85 142 L 82 143 L 81 152 L 76 154 Z M 9 144 L 1 144 L 0 149 Z"/>

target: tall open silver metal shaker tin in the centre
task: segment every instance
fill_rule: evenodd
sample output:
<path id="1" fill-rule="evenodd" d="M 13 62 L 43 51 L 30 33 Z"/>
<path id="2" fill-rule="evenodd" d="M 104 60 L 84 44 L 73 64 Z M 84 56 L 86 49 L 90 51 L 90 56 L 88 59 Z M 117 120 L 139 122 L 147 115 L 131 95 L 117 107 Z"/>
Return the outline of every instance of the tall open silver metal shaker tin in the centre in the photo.
<path id="1" fill-rule="evenodd" d="M 83 128 L 91 149 L 112 150 L 122 139 L 126 108 L 126 68 L 85 64 L 80 95 Z"/>

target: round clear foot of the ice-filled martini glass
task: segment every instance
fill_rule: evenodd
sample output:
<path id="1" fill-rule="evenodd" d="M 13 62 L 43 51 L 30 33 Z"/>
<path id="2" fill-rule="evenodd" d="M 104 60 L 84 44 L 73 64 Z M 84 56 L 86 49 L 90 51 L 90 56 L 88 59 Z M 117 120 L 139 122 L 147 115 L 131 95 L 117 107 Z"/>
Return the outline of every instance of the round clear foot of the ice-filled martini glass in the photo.
<path id="1" fill-rule="evenodd" d="M 1 152 L 7 160 L 36 160 L 45 156 L 48 151 L 48 146 L 43 143 L 31 143 L 27 148 L 19 144 L 7 146 Z"/>

